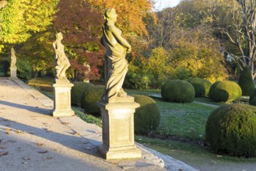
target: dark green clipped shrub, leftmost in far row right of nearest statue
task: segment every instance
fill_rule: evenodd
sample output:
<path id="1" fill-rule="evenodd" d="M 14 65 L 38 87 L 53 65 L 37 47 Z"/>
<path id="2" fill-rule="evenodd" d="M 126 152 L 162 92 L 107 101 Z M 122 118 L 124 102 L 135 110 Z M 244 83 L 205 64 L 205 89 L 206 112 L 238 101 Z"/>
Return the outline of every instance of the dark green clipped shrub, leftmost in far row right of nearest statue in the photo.
<path id="1" fill-rule="evenodd" d="M 162 98 L 171 102 L 191 103 L 195 99 L 195 89 L 184 80 L 168 80 L 161 89 Z"/>

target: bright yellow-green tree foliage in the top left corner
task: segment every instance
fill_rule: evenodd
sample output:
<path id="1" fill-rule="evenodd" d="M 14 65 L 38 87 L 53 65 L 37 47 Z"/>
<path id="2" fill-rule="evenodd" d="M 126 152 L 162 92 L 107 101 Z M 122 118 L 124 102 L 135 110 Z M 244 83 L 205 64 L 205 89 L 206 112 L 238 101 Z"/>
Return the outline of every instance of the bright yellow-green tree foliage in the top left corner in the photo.
<path id="1" fill-rule="evenodd" d="M 1 44 L 19 44 L 47 30 L 58 0 L 9 0 L 0 10 Z"/>

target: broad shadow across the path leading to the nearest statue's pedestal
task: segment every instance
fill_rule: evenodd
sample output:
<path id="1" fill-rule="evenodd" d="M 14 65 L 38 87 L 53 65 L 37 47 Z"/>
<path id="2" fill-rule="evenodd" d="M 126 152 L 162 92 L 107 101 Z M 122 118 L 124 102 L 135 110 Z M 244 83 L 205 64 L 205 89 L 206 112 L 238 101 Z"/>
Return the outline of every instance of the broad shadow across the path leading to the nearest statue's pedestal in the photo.
<path id="1" fill-rule="evenodd" d="M 22 134 L 33 134 L 34 136 L 44 138 L 50 141 L 57 142 L 58 144 L 64 145 L 65 147 L 72 148 L 79 152 L 85 152 L 88 155 L 93 155 L 98 158 L 102 156 L 96 151 L 96 147 L 89 143 L 89 139 L 83 138 L 82 136 L 75 135 L 74 132 L 69 128 L 71 132 L 68 134 L 61 134 L 58 132 L 51 131 L 47 128 L 32 127 L 26 124 L 19 123 L 17 121 L 8 120 L 0 117 L 0 131 L 6 133 L 6 127 L 11 128 L 13 133 L 18 134 L 16 131 L 22 131 Z M 97 143 L 100 143 L 97 141 Z M 47 147 L 49 148 L 49 147 Z"/>

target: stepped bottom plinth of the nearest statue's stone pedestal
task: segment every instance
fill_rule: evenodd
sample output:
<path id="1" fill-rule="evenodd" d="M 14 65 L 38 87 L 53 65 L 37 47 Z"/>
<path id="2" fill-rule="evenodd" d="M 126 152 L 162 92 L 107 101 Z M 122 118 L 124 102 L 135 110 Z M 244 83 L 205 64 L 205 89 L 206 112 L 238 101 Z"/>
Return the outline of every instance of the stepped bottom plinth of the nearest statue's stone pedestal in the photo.
<path id="1" fill-rule="evenodd" d="M 135 145 L 121 147 L 121 148 L 108 148 L 106 145 L 97 147 L 98 152 L 107 160 L 109 159 L 139 159 L 142 157 L 142 151 L 136 148 Z"/>

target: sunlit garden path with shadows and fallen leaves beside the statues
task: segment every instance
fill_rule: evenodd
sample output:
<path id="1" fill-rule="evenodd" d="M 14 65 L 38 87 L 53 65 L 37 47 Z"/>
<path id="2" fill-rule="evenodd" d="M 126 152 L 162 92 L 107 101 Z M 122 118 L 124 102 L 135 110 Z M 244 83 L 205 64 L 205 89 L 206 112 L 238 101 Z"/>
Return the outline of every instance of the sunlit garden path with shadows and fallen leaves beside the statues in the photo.
<path id="1" fill-rule="evenodd" d="M 52 108 L 19 79 L 0 79 L 0 170 L 195 170 L 139 144 L 142 159 L 106 161 L 96 151 L 100 127 L 51 117 Z"/>

